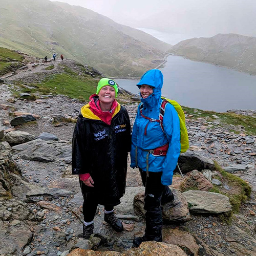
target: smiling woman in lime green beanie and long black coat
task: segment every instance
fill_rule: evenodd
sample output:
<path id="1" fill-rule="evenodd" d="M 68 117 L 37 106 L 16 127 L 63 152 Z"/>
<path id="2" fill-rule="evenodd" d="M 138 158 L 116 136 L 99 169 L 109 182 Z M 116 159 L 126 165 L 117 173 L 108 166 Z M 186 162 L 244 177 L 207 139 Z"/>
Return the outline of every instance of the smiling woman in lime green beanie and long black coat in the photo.
<path id="1" fill-rule="evenodd" d="M 93 233 L 98 204 L 104 221 L 117 232 L 122 222 L 114 215 L 125 192 L 131 126 L 126 109 L 117 101 L 117 84 L 102 78 L 96 94 L 81 108 L 72 141 L 72 174 L 79 175 L 83 195 L 83 238 Z"/>

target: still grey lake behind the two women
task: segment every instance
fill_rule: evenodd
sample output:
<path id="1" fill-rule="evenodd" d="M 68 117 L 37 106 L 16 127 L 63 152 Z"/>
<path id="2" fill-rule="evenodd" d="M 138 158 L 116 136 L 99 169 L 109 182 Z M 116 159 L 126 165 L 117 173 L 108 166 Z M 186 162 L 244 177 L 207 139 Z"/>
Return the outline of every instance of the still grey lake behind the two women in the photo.
<path id="1" fill-rule="evenodd" d="M 183 106 L 225 112 L 256 110 L 256 76 L 180 56 L 168 56 L 162 95 Z M 136 94 L 138 80 L 115 79 L 120 87 Z"/>

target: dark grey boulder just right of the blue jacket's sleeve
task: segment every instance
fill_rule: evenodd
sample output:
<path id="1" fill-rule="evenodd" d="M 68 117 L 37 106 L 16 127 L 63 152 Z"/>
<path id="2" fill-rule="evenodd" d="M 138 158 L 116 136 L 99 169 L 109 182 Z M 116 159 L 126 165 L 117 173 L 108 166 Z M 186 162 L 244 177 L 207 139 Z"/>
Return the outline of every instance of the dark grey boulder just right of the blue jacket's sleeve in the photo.
<path id="1" fill-rule="evenodd" d="M 191 170 L 195 169 L 200 171 L 203 169 L 215 169 L 214 161 L 189 150 L 179 156 L 178 164 L 184 173 L 191 172 Z M 179 172 L 178 167 L 176 167 L 175 172 Z"/>

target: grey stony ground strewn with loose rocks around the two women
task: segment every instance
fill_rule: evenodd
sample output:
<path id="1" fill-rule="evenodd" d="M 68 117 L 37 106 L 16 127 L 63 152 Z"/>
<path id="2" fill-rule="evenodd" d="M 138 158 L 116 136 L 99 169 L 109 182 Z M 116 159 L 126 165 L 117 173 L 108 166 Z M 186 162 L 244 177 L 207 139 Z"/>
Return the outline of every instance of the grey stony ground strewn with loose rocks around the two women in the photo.
<path id="1" fill-rule="evenodd" d="M 25 73 L 17 76 L 24 78 Z M 13 78 L 15 77 L 13 76 Z M 12 78 L 8 79 L 11 81 Z M 107 245 L 105 247 L 97 245 L 99 243 L 97 237 L 93 240 L 93 244 L 79 239 L 79 233 L 82 230 L 79 220 L 82 217 L 82 198 L 79 193 L 77 177 L 71 175 L 70 164 L 71 140 L 75 123 L 62 121 L 53 123 L 53 120 L 57 115 L 66 118 L 77 117 L 82 104 L 64 96 L 53 96 L 37 101 L 14 99 L 11 97 L 11 88 L 12 86 L 9 84 L 1 85 L 0 131 L 11 127 L 8 121 L 10 122 L 14 118 L 12 116 L 14 111 L 32 113 L 40 116 L 36 122 L 20 126 L 17 129 L 35 137 L 42 132 L 51 133 L 56 135 L 59 141 L 36 140 L 30 142 L 33 150 L 31 147 L 24 150 L 22 148 L 24 144 L 14 147 L 16 150 L 12 153 L 12 159 L 19 166 L 23 180 L 16 177 L 14 196 L 17 201 L 12 199 L 14 201 L 0 205 L 0 216 L 1 212 L 13 212 L 12 210 L 17 208 L 23 217 L 15 217 L 14 222 L 11 223 L 8 222 L 9 217 L 6 213 L 1 218 L 0 225 L 3 225 L 3 230 L 7 231 L 0 231 L 1 245 L 5 245 L 5 248 L 0 247 L 0 251 L 2 249 L 2 253 L 15 255 L 65 256 L 68 251 L 76 247 L 98 248 L 99 250 L 102 247 L 102 250 L 111 248 L 116 251 L 130 248 L 133 237 L 143 234 L 145 228 L 145 224 L 139 221 L 132 206 L 133 197 L 143 190 L 138 170 L 129 168 L 125 194 L 127 201 L 123 200 L 122 205 L 116 208 L 117 214 L 121 215 L 120 217 L 126 224 L 126 230 L 118 234 L 105 225 L 103 223 L 103 208 L 99 206 L 95 218 L 95 232 L 108 238 Z M 132 123 L 136 117 L 137 106 L 138 103 L 126 105 Z M 3 121 L 6 121 L 5 125 Z M 191 242 L 188 247 L 191 249 L 198 246 L 197 251 L 200 252 L 197 252 L 198 255 L 255 255 L 256 241 L 253 240 L 256 231 L 254 229 L 256 217 L 253 215 L 256 213 L 255 137 L 247 136 L 243 127 L 240 127 L 240 134 L 229 132 L 230 127 L 222 126 L 218 119 L 207 122 L 204 118 L 197 120 L 187 118 L 186 124 L 190 151 L 217 160 L 222 167 L 227 167 L 228 172 L 250 182 L 253 193 L 230 225 L 221 221 L 216 215 L 191 215 L 189 222 L 165 225 L 165 239 L 168 240 L 171 237 L 169 233 L 174 232 L 173 230 L 181 232 L 177 233 L 176 237 L 181 236 L 182 239 L 185 239 L 183 236 L 188 231 L 193 234 L 194 238 L 197 238 L 196 241 L 193 238 L 191 241 L 194 242 Z M 44 162 L 31 160 L 31 157 L 38 156 L 40 151 L 50 152 L 49 159 L 44 159 Z M 24 185 L 20 186 L 20 183 Z M 29 218 L 29 212 L 23 202 L 27 204 L 35 217 Z M 130 214 L 127 215 L 129 212 Z M 10 229 L 10 227 L 13 228 Z M 8 231 L 9 229 L 12 231 Z M 13 238 L 15 232 L 18 233 L 18 240 Z M 11 241 L 18 241 L 20 247 Z M 18 251 L 17 248 L 23 249 Z M 206 251 L 203 252 L 203 249 Z M 191 249 L 191 251 L 193 250 Z M 191 251 L 188 255 L 193 255 Z"/>

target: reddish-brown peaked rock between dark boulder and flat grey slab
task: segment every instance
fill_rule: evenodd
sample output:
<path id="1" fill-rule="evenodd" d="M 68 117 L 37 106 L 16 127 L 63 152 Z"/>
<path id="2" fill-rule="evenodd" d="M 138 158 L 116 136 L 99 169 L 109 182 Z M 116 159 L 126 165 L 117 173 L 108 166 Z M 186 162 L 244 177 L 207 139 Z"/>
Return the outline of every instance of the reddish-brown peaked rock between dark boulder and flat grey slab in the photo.
<path id="1" fill-rule="evenodd" d="M 181 191 L 189 189 L 207 191 L 212 187 L 213 185 L 198 170 L 193 170 L 180 184 Z"/>

